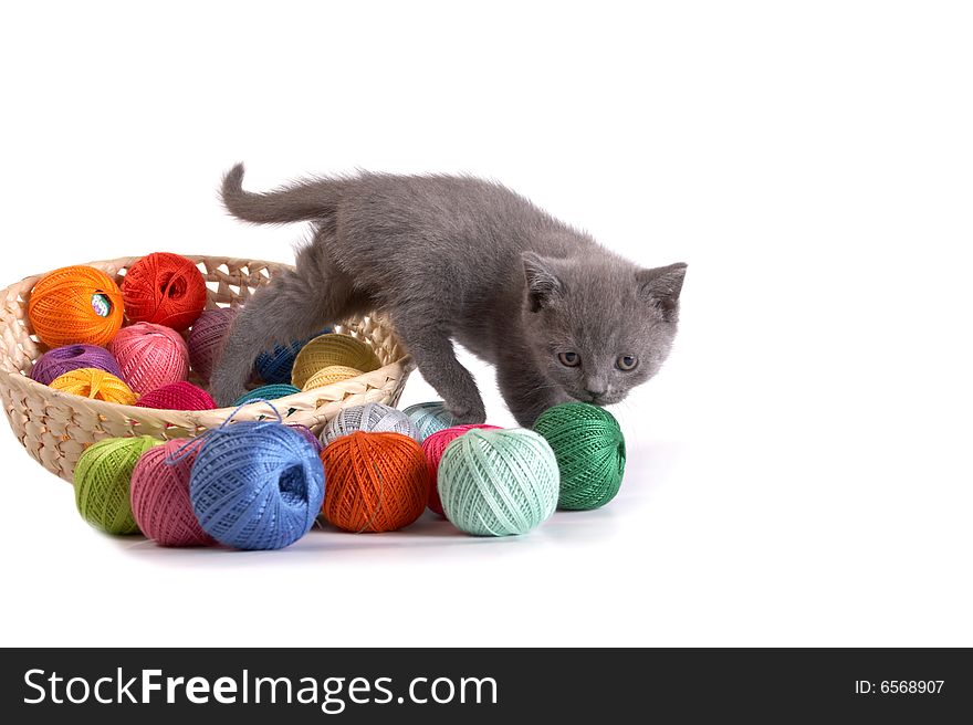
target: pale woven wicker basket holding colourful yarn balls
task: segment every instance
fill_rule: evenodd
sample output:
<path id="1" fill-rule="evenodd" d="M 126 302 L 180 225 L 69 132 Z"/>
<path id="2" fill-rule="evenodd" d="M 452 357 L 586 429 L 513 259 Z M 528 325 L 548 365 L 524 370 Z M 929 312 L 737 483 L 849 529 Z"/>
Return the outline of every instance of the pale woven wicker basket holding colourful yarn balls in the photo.
<path id="1" fill-rule="evenodd" d="M 187 255 L 197 262 L 207 281 L 209 308 L 237 306 L 271 276 L 289 269 L 284 264 L 223 256 Z M 115 275 L 139 258 L 129 256 L 91 266 Z M 27 277 L 3 291 L 0 314 L 0 398 L 14 435 L 38 462 L 52 473 L 72 480 L 85 446 L 104 438 L 153 435 L 160 440 L 196 435 L 222 423 L 232 408 L 202 411 L 155 410 L 90 400 L 34 382 L 28 374 L 44 346 L 29 328 L 27 303 L 43 275 Z M 345 321 L 335 332 L 368 343 L 383 367 L 348 380 L 300 392 L 273 402 L 285 422 L 307 425 L 315 432 L 348 406 L 383 402 L 395 406 L 409 372 L 415 369 L 395 330 L 379 315 Z M 240 410 L 234 420 L 274 417 L 266 403 Z"/>

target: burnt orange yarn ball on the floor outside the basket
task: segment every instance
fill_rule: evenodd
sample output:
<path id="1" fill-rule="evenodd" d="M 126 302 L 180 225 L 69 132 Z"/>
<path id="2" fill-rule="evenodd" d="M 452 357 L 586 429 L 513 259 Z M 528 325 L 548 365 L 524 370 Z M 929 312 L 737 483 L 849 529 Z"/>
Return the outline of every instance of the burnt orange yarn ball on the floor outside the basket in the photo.
<path id="1" fill-rule="evenodd" d="M 429 469 L 419 444 L 401 433 L 358 431 L 321 454 L 327 476 L 322 513 L 347 532 L 393 532 L 426 509 Z"/>

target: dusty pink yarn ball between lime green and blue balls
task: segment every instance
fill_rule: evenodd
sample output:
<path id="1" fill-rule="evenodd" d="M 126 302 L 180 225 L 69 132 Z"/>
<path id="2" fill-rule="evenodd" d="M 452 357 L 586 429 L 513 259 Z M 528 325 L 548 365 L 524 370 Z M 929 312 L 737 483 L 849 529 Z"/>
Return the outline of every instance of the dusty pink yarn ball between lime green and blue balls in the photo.
<path id="1" fill-rule="evenodd" d="M 132 515 L 142 533 L 160 546 L 216 544 L 189 503 L 196 454 L 190 439 L 177 438 L 143 453 L 132 472 Z"/>

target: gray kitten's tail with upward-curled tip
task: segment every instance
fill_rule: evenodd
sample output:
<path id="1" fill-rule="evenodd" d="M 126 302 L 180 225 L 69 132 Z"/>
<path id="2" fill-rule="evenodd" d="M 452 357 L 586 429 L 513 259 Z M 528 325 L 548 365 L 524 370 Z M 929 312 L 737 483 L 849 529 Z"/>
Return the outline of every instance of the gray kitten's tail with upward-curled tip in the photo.
<path id="1" fill-rule="evenodd" d="M 266 193 L 243 190 L 243 165 L 227 171 L 220 193 L 231 214 L 255 224 L 284 224 L 333 214 L 341 198 L 342 182 L 314 179 L 280 187 Z"/>

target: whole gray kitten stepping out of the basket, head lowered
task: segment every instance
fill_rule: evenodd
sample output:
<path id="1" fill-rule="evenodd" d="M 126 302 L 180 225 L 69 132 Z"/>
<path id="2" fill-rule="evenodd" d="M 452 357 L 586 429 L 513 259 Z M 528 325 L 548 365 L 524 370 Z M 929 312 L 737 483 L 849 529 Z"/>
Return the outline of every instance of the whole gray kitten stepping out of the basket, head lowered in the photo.
<path id="1" fill-rule="evenodd" d="M 260 350 L 369 309 L 388 313 L 463 423 L 485 411 L 453 339 L 496 366 L 525 427 L 561 402 L 618 402 L 669 355 L 686 264 L 640 269 L 499 183 L 363 172 L 251 193 L 242 181 L 242 165 L 223 179 L 230 213 L 311 221 L 313 239 L 238 315 L 212 380 L 221 406 Z"/>

